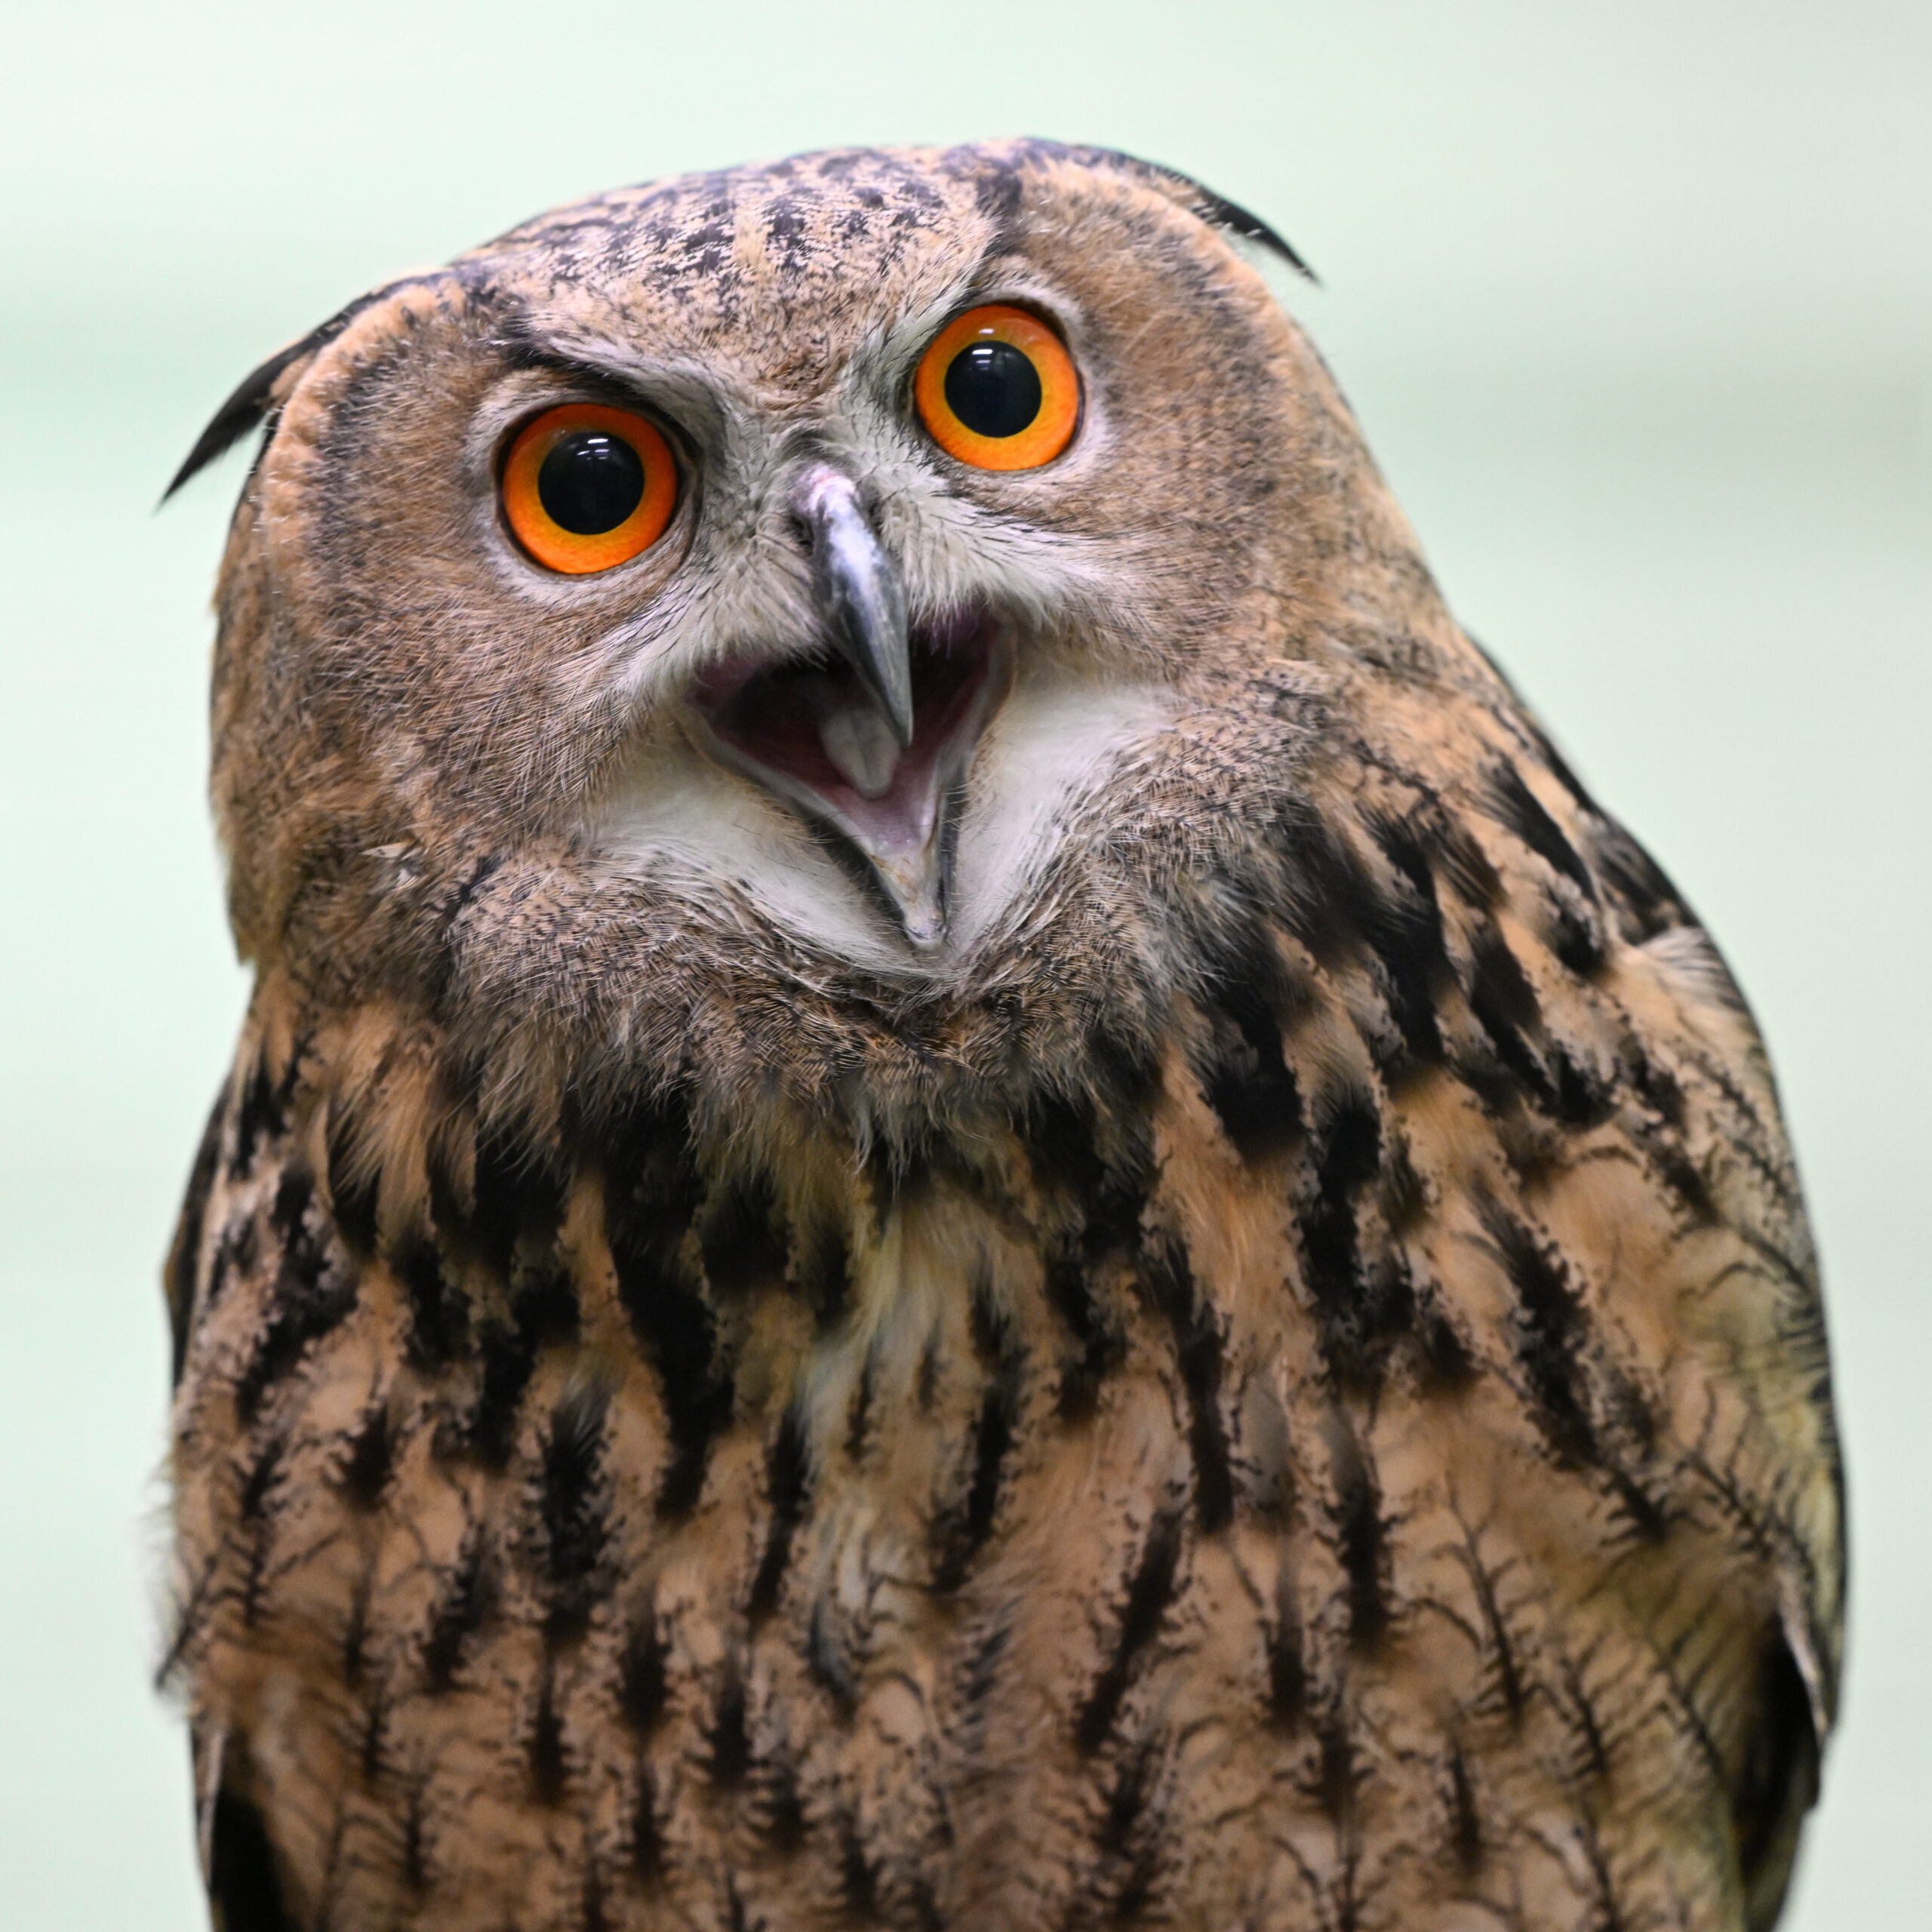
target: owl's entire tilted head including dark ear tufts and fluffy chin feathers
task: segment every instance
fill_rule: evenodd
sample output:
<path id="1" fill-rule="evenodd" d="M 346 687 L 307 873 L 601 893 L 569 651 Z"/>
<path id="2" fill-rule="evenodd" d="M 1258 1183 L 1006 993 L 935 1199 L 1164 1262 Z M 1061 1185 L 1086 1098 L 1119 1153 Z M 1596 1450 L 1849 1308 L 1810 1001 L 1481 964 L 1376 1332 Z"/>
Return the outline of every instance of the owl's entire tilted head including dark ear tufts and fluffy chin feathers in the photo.
<path id="1" fill-rule="evenodd" d="M 1150 895 L 1300 810 L 1349 678 L 1488 676 L 1256 249 L 1298 267 L 1105 151 L 842 151 L 572 203 L 284 350 L 176 479 L 267 419 L 243 952 L 589 1057 L 1151 997 Z"/>

